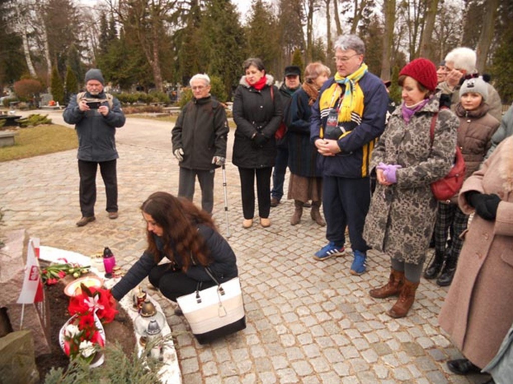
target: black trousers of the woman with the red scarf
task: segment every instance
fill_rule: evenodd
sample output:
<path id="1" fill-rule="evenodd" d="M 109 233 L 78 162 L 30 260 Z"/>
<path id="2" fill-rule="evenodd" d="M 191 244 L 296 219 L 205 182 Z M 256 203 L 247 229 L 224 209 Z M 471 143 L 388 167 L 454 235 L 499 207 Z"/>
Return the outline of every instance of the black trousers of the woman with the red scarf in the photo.
<path id="1" fill-rule="evenodd" d="M 272 167 L 241 168 L 241 195 L 244 219 L 252 219 L 255 213 L 255 176 L 257 176 L 258 211 L 261 218 L 267 219 L 271 210 L 271 172 Z"/>

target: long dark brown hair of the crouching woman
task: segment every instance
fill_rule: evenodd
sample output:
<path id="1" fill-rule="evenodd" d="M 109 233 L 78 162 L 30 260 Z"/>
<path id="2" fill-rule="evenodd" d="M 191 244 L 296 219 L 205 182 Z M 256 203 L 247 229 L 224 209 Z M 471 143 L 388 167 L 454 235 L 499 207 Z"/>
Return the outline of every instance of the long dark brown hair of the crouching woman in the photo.
<path id="1" fill-rule="evenodd" d="M 164 253 L 173 260 L 180 258 L 184 271 L 194 263 L 209 265 L 211 262 L 209 249 L 198 232 L 198 224 L 205 224 L 215 229 L 215 225 L 207 212 L 196 207 L 185 198 L 176 198 L 167 192 L 154 192 L 141 205 L 141 210 L 150 215 L 156 224 L 162 227 L 162 243 Z M 148 239 L 147 251 L 159 261 L 159 250 L 155 244 L 154 234 L 146 226 Z M 174 244 L 177 254 L 174 254 Z"/>

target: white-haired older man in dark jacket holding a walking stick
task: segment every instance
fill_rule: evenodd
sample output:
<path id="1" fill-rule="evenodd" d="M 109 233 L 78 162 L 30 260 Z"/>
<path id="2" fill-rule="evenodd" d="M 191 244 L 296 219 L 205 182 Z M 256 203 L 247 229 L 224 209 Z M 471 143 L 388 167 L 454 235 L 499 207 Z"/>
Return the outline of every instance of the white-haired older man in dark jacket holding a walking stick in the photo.
<path id="1" fill-rule="evenodd" d="M 178 196 L 192 201 L 196 176 L 201 207 L 212 214 L 215 168 L 226 159 L 228 121 L 224 106 L 210 95 L 210 78 L 196 74 L 189 81 L 192 100 L 185 104 L 171 131 L 173 155 L 179 161 Z"/>

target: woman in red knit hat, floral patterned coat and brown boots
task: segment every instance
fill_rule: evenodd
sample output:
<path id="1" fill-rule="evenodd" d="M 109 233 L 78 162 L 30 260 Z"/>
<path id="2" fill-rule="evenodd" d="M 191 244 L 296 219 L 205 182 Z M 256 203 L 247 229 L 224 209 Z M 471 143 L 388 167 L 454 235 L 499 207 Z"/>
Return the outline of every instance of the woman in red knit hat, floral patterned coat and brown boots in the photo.
<path id="1" fill-rule="evenodd" d="M 452 112 L 439 111 L 437 70 L 431 61 L 418 58 L 408 63 L 399 73 L 399 85 L 403 102 L 372 152 L 370 166 L 378 183 L 364 229 L 367 243 L 391 260 L 388 282 L 369 294 L 399 295 L 387 311 L 396 318 L 406 316 L 415 301 L 438 207 L 429 184 L 449 172 L 459 125 Z"/>

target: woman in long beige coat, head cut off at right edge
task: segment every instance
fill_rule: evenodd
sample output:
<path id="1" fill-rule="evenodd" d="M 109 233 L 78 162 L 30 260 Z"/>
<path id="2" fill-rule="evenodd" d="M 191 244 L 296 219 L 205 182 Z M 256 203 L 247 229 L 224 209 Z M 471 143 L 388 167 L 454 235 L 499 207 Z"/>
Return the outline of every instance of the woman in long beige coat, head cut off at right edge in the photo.
<path id="1" fill-rule="evenodd" d="M 496 194 L 500 202 L 495 220 L 483 219 L 479 209 L 473 216 L 439 316 L 440 326 L 469 360 L 448 362 L 449 369 L 451 364 L 465 368 L 451 369 L 460 374 L 486 366 L 513 323 L 513 137 L 463 184 L 458 203 L 467 215 L 475 212 L 469 191 Z"/>

